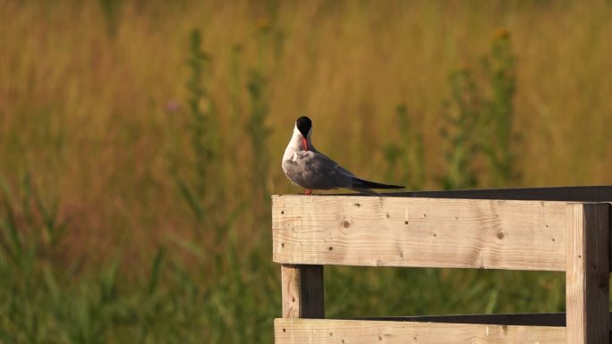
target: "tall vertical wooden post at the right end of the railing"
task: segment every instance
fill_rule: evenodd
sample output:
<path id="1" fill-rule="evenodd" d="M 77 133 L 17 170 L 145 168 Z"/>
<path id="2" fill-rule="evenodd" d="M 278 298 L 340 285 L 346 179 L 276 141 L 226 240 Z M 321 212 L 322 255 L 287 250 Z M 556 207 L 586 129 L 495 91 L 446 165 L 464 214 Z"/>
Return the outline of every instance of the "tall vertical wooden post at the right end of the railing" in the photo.
<path id="1" fill-rule="evenodd" d="M 609 343 L 608 204 L 567 205 L 567 342 Z"/>

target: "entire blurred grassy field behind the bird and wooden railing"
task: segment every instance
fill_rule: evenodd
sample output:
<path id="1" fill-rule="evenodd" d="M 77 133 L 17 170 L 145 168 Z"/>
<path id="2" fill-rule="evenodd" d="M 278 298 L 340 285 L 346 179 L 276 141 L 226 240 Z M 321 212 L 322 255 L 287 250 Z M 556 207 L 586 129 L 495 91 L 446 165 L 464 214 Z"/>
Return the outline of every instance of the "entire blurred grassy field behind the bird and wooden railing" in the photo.
<path id="1" fill-rule="evenodd" d="M 410 189 L 609 184 L 612 4 L 0 1 L 0 342 L 271 342 L 309 115 Z M 561 311 L 558 273 L 326 270 L 328 316 Z"/>

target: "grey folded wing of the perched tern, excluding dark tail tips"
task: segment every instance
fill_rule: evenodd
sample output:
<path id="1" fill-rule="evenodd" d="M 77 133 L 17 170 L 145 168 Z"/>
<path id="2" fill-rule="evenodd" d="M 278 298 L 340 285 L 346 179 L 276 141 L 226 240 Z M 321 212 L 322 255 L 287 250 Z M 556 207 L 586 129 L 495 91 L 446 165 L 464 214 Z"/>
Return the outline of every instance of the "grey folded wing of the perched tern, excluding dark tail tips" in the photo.
<path id="1" fill-rule="evenodd" d="M 285 174 L 295 184 L 306 189 L 336 189 L 353 186 L 353 173 L 319 152 L 295 152 L 283 162 Z"/>

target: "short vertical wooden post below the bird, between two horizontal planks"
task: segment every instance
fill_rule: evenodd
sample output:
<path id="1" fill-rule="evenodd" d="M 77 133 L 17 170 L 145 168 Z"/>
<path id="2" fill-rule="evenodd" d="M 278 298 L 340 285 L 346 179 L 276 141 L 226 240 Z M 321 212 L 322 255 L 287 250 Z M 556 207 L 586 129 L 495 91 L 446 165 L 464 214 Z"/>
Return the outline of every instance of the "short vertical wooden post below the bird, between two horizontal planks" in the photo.
<path id="1" fill-rule="evenodd" d="M 281 265 L 284 318 L 324 318 L 323 265 Z"/>

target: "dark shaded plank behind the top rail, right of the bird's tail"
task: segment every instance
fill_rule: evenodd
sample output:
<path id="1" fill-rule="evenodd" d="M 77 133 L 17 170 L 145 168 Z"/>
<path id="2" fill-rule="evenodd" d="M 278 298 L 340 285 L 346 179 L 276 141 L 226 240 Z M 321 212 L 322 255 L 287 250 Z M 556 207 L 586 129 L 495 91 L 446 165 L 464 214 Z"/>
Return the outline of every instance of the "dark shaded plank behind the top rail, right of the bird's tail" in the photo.
<path id="1" fill-rule="evenodd" d="M 612 202 L 612 186 L 521 188 L 521 189 L 464 189 L 395 192 L 392 197 L 514 199 L 566 202 Z"/>

